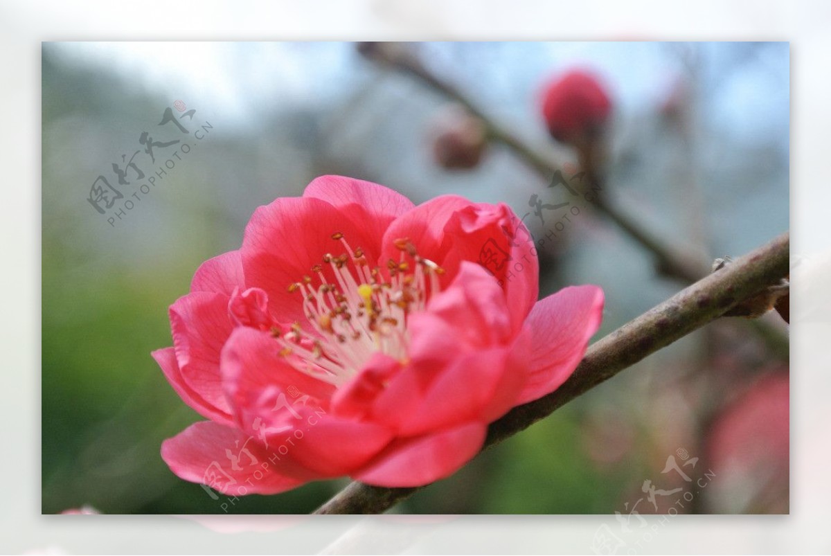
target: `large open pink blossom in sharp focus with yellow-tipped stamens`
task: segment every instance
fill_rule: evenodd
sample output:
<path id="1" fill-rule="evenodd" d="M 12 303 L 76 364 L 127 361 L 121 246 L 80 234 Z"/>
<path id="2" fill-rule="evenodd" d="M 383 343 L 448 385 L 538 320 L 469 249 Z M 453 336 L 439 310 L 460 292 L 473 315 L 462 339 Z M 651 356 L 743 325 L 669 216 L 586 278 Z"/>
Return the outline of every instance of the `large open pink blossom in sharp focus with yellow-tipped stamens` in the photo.
<path id="1" fill-rule="evenodd" d="M 162 457 L 232 495 L 451 475 L 489 422 L 568 378 L 600 325 L 600 288 L 537 295 L 506 205 L 318 178 L 257 209 L 171 306 L 174 347 L 153 356 L 210 421 Z"/>

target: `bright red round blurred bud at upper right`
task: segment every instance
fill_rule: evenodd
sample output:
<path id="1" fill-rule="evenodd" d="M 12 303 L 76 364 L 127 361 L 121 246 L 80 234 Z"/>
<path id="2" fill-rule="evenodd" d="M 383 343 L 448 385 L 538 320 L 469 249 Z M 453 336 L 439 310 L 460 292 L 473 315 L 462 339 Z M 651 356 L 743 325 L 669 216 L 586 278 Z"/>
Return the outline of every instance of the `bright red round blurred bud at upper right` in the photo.
<path id="1" fill-rule="evenodd" d="M 582 143 L 606 122 L 612 102 L 597 77 L 583 70 L 558 76 L 543 91 L 543 117 L 552 137 Z"/>

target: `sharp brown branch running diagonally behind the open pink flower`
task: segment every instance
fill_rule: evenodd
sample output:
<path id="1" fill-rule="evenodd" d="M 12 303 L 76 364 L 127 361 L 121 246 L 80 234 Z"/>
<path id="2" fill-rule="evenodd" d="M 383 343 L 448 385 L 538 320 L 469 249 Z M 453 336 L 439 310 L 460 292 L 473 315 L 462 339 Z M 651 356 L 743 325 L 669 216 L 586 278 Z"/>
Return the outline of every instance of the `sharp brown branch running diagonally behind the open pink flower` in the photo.
<path id="1" fill-rule="evenodd" d="M 548 396 L 514 407 L 491 423 L 484 448 L 523 431 L 661 347 L 714 321 L 736 303 L 779 283 L 788 272 L 789 234 L 786 233 L 736 259 L 730 266 L 702 278 L 594 343 L 563 386 Z M 416 490 L 419 489 L 387 489 L 353 482 L 315 513 L 380 514 Z"/>

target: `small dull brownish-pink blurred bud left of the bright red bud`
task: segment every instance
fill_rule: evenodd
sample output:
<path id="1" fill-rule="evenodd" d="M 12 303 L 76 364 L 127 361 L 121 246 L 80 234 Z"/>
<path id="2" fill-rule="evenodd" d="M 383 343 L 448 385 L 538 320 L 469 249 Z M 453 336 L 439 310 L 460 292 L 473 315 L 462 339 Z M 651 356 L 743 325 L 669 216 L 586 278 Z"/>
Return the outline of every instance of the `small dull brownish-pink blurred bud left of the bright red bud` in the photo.
<path id="1" fill-rule="evenodd" d="M 447 170 L 470 170 L 479 165 L 488 144 L 484 122 L 463 107 L 448 106 L 432 122 L 436 164 Z"/>

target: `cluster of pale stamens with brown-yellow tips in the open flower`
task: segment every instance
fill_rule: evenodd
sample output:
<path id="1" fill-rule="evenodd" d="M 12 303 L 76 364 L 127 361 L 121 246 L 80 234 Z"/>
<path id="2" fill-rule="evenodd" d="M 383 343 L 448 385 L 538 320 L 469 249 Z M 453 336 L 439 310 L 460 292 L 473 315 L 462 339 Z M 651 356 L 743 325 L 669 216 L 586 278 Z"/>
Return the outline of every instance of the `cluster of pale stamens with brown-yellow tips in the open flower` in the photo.
<path id="1" fill-rule="evenodd" d="M 288 286 L 302 295 L 303 312 L 312 331 L 295 322 L 288 332 L 272 329 L 282 346 L 280 355 L 298 371 L 341 386 L 382 352 L 404 363 L 410 345 L 407 317 L 423 310 L 439 292 L 444 269 L 422 258 L 409 239 L 396 239 L 398 261 L 389 259 L 386 272 L 370 268 L 363 249 L 352 247 L 343 234 L 332 234 L 346 253 L 323 255 L 312 276 Z M 332 269 L 335 282 L 323 274 Z"/>

